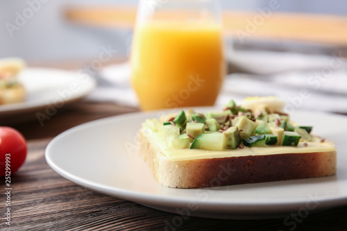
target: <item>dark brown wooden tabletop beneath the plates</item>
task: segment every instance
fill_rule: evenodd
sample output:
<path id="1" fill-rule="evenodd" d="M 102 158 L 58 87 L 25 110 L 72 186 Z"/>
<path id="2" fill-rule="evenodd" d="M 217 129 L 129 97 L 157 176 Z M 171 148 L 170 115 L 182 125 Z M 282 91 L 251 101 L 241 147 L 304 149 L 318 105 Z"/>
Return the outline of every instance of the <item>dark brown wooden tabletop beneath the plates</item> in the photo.
<path id="1" fill-rule="evenodd" d="M 167 226 L 177 214 L 105 196 L 62 178 L 44 159 L 49 141 L 87 121 L 136 112 L 113 103 L 80 101 L 41 127 L 37 121 L 14 126 L 28 139 L 24 166 L 12 176 L 11 227 L 5 224 L 1 193 L 0 230 L 289 230 L 284 219 L 219 220 L 189 217 L 180 228 Z M 1 182 L 4 190 L 4 180 Z M 288 214 L 290 216 L 290 214 Z M 346 230 L 347 206 L 298 219 L 295 230 Z"/>

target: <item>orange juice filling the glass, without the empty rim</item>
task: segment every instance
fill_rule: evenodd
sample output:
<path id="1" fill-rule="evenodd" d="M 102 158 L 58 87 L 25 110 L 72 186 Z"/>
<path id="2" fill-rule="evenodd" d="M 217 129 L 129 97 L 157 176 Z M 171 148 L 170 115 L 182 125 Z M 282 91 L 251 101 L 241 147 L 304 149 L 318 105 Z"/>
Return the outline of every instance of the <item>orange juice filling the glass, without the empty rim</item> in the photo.
<path id="1" fill-rule="evenodd" d="M 130 62 L 141 109 L 213 105 L 225 75 L 222 46 L 212 22 L 138 25 Z"/>

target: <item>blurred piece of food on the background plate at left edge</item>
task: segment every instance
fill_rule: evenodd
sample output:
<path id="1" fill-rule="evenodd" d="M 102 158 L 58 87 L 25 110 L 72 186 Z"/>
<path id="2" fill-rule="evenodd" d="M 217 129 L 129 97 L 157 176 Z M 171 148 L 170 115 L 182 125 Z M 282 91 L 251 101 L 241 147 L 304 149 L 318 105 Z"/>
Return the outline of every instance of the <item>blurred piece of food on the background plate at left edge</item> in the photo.
<path id="1" fill-rule="evenodd" d="M 0 59 L 0 105 L 20 103 L 25 99 L 25 89 L 17 79 L 26 66 L 20 58 Z"/>

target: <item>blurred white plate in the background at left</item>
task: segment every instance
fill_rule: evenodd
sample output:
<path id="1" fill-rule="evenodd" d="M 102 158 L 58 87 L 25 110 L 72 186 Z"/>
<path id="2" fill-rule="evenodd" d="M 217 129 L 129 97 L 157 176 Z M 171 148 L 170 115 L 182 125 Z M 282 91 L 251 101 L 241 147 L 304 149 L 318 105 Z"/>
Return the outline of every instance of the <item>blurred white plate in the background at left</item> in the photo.
<path id="1" fill-rule="evenodd" d="M 0 119 L 37 111 L 53 113 L 68 103 L 82 99 L 96 86 L 89 75 L 60 69 L 26 68 L 19 74 L 26 89 L 23 103 L 0 105 Z M 52 107 L 53 106 L 53 107 Z"/>

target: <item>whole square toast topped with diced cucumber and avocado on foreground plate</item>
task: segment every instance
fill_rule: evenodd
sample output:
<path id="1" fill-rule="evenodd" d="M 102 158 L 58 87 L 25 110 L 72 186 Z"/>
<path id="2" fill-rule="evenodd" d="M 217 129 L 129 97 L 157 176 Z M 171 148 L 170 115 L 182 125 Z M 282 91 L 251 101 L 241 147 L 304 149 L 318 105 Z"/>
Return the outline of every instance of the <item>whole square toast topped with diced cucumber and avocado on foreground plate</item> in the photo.
<path id="1" fill-rule="evenodd" d="M 174 188 L 334 175 L 335 144 L 291 121 L 284 106 L 276 97 L 248 97 L 220 111 L 147 119 L 139 130 L 142 157 L 155 180 Z"/>

